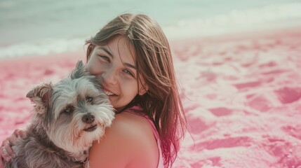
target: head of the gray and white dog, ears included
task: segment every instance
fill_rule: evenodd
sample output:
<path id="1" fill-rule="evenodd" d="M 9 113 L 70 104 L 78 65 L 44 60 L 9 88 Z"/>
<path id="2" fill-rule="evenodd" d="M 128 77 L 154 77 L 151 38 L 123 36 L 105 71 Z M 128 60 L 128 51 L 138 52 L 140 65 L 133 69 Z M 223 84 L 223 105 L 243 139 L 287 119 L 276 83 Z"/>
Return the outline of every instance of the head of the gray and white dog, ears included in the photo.
<path id="1" fill-rule="evenodd" d="M 27 94 L 35 106 L 34 123 L 53 143 L 70 153 L 82 153 L 100 139 L 114 119 L 109 98 L 82 62 L 55 85 L 42 83 Z"/>

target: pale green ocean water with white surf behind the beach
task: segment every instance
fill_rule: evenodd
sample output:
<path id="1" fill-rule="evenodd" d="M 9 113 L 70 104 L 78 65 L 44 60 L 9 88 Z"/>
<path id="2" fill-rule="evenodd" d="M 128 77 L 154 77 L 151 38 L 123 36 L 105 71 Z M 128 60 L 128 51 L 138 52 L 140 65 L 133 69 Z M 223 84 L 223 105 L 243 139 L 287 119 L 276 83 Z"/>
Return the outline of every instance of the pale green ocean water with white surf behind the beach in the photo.
<path id="1" fill-rule="evenodd" d="M 0 59 L 81 50 L 127 12 L 154 18 L 170 40 L 301 25 L 300 0 L 0 0 Z"/>

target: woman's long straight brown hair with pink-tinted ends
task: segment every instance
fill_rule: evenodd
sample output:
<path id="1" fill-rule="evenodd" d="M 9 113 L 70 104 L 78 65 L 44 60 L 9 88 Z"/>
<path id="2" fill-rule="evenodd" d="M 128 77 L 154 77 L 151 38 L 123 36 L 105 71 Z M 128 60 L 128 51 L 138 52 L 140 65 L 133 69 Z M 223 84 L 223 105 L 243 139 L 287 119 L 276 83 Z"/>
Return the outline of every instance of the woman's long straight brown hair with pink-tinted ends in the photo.
<path id="1" fill-rule="evenodd" d="M 126 36 L 135 48 L 135 64 L 148 87 L 143 96 L 137 95 L 127 107 L 140 105 L 143 113 L 152 118 L 159 132 L 164 166 L 171 167 L 185 134 L 186 118 L 168 41 L 159 24 L 147 15 L 126 13 L 86 41 L 87 59 L 96 45 L 104 45 L 120 35 Z"/>

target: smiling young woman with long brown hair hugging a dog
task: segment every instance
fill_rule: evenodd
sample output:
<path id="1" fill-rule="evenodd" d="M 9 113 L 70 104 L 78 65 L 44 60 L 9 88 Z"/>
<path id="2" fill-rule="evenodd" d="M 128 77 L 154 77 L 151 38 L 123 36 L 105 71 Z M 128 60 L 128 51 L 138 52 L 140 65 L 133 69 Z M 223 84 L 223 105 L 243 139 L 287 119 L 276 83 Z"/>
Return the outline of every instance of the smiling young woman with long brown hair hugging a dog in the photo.
<path id="1" fill-rule="evenodd" d="M 147 15 L 127 13 L 86 44 L 87 69 L 100 80 L 117 111 L 105 138 L 91 148 L 90 166 L 171 167 L 186 120 L 161 27 Z M 11 146 L 23 133 L 16 131 L 2 143 L 4 159 L 14 157 Z"/>

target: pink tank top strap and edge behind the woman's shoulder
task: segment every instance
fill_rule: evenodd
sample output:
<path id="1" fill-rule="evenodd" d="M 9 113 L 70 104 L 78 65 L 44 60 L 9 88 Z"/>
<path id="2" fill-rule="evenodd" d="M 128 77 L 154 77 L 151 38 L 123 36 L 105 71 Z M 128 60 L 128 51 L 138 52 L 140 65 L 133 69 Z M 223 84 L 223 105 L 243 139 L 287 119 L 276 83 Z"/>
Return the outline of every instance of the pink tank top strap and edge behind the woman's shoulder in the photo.
<path id="1" fill-rule="evenodd" d="M 154 137 L 156 138 L 156 144 L 157 144 L 158 150 L 159 150 L 158 168 L 164 168 L 159 133 L 156 130 L 156 126 L 154 125 L 154 123 L 152 122 L 152 120 L 149 118 L 149 116 L 147 116 L 147 115 L 145 115 L 143 113 L 135 113 L 135 110 L 140 110 L 140 109 L 141 109 L 140 106 L 133 106 L 130 109 L 126 109 L 125 111 L 128 111 L 128 112 L 133 113 L 133 114 L 138 115 L 138 116 L 145 117 L 147 119 L 147 121 L 149 122 L 149 124 L 152 126 L 152 132 L 154 134 Z"/>

